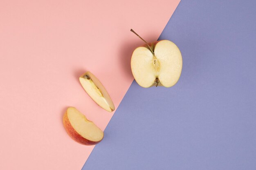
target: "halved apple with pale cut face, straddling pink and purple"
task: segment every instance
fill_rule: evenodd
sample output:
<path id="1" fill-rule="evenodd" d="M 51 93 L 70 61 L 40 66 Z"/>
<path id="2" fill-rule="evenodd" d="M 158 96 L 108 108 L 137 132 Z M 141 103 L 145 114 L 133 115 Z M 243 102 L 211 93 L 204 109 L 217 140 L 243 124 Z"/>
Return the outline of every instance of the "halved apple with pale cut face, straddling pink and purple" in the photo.
<path id="1" fill-rule="evenodd" d="M 182 71 L 182 55 L 169 40 L 161 40 L 140 46 L 132 53 L 131 69 L 136 82 L 144 87 L 171 87 L 177 83 Z"/>

